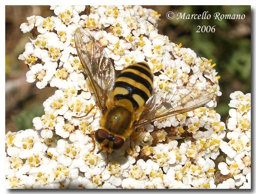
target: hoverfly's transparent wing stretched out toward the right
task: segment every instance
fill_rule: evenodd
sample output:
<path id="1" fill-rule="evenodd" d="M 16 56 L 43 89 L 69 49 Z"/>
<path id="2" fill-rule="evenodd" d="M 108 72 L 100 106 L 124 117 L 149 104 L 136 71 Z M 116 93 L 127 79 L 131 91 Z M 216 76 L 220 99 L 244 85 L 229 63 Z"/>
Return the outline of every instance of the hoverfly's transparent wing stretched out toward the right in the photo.
<path id="1" fill-rule="evenodd" d="M 136 126 L 194 110 L 207 104 L 213 96 L 214 91 L 209 88 L 192 86 L 170 88 L 164 94 L 155 94 L 147 100 L 145 110 Z"/>

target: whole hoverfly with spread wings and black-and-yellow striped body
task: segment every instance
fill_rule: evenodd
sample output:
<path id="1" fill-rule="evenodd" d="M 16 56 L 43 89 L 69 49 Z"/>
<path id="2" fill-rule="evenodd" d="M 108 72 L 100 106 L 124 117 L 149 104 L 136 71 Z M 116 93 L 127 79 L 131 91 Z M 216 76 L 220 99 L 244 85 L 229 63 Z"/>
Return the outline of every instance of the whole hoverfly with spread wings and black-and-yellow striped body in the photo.
<path id="1" fill-rule="evenodd" d="M 191 86 L 153 94 L 153 74 L 146 62 L 131 64 L 116 77 L 104 48 L 87 30 L 76 29 L 75 44 L 102 112 L 99 129 L 91 132 L 94 148 L 96 140 L 100 151 L 123 149 L 143 125 L 199 108 L 214 96 L 209 88 Z M 135 133 L 136 129 L 140 132 Z"/>

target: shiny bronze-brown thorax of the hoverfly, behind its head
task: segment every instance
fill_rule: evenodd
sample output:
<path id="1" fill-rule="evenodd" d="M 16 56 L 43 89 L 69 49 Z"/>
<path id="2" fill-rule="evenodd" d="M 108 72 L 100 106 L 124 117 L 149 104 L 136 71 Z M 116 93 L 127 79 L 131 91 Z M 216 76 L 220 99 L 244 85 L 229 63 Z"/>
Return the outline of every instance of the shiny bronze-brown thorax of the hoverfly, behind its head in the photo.
<path id="1" fill-rule="evenodd" d="M 131 125 L 132 113 L 119 106 L 114 106 L 107 113 L 105 126 L 109 131 L 122 135 Z"/>

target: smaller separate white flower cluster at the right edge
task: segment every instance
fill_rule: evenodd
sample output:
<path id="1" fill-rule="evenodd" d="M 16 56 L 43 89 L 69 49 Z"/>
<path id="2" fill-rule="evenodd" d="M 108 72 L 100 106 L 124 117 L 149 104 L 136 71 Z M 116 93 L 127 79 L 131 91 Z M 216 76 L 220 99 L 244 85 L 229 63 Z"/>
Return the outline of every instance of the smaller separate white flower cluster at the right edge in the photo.
<path id="1" fill-rule="evenodd" d="M 229 175 L 230 185 L 251 188 L 251 94 L 235 91 L 230 94 L 231 109 L 227 122 L 227 139 L 219 147 L 226 155 L 226 162 L 218 168 L 223 175 Z M 220 185 L 220 187 L 219 187 Z M 219 184 L 217 188 L 225 188 Z"/>

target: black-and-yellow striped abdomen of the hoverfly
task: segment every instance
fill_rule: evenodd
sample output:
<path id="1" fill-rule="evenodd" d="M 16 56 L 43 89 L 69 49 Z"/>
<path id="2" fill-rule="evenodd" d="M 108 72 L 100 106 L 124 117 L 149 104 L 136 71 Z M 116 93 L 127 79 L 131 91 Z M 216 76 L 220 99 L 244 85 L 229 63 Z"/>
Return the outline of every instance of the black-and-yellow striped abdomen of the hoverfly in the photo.
<path id="1" fill-rule="evenodd" d="M 133 110 L 137 110 L 152 95 L 152 87 L 153 75 L 148 64 L 139 62 L 130 65 L 121 71 L 115 81 L 114 101 L 116 104 L 130 101 Z"/>

